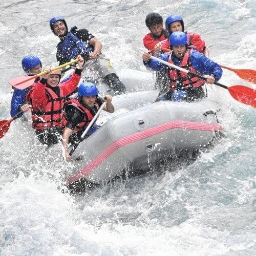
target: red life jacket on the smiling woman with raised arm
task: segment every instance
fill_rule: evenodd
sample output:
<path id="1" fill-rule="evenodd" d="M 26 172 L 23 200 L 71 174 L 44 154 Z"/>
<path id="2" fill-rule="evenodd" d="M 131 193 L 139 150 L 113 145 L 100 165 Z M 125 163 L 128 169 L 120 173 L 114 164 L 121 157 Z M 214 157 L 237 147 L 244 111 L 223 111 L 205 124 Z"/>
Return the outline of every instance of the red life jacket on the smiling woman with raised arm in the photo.
<path id="1" fill-rule="evenodd" d="M 31 93 L 34 90 L 32 88 L 27 98 L 32 102 Z M 42 110 L 32 110 L 32 127 L 36 130 L 45 130 L 53 127 L 64 127 L 63 124 L 63 105 L 65 97 L 61 87 L 59 87 L 59 95 L 55 94 L 50 87 L 46 86 L 46 94 L 48 96 L 48 102 Z"/>

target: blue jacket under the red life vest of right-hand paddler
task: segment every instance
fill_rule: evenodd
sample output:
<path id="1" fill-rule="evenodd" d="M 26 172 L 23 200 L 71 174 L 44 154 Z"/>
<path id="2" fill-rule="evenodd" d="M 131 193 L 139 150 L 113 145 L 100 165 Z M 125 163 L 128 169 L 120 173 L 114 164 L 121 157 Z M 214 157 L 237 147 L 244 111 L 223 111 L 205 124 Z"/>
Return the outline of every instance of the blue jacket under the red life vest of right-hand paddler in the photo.
<path id="1" fill-rule="evenodd" d="M 158 58 L 164 61 L 168 61 L 169 53 L 160 54 Z M 174 61 L 176 66 L 179 66 L 181 60 L 175 58 L 174 54 L 172 55 L 172 60 Z M 197 71 L 199 71 L 201 74 L 204 74 L 204 75 L 214 74 L 216 77 L 216 81 L 220 80 L 222 75 L 222 69 L 216 62 L 210 60 L 202 53 L 196 50 L 193 50 L 191 53 L 190 61 L 191 61 L 192 67 Z M 168 68 L 166 65 L 154 59 L 150 59 L 148 62 L 143 61 L 143 63 L 146 67 L 149 67 L 158 71 L 162 69 L 167 70 Z"/>

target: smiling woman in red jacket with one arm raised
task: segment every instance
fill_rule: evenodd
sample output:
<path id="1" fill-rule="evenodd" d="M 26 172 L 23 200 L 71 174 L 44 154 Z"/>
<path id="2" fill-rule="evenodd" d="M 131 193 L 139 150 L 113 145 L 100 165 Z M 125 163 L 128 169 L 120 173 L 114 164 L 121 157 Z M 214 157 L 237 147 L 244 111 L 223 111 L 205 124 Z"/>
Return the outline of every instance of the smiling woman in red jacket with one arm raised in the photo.
<path id="1" fill-rule="evenodd" d="M 49 73 L 42 76 L 28 92 L 27 101 L 32 105 L 32 127 L 42 144 L 52 146 L 61 139 L 65 128 L 62 113 L 65 96 L 76 89 L 81 78 L 84 60 L 81 56 L 78 59 L 77 68 L 68 81 L 59 84 L 60 70 L 51 72 L 46 68 Z"/>

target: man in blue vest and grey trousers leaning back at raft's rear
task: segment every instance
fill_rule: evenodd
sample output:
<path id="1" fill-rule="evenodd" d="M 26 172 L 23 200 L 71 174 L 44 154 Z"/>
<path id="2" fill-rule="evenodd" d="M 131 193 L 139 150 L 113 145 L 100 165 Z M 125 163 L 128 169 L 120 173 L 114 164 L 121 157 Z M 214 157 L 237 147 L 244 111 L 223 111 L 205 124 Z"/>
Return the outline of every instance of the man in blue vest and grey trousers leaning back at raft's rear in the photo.
<path id="1" fill-rule="evenodd" d="M 72 27 L 68 30 L 66 20 L 55 16 L 50 20 L 50 28 L 60 42 L 57 45 L 56 58 L 59 64 L 66 63 L 80 54 L 85 60 L 83 75 L 102 79 L 116 94 L 125 93 L 124 84 L 119 80 L 109 59 L 101 53 L 101 42 L 87 29 Z"/>

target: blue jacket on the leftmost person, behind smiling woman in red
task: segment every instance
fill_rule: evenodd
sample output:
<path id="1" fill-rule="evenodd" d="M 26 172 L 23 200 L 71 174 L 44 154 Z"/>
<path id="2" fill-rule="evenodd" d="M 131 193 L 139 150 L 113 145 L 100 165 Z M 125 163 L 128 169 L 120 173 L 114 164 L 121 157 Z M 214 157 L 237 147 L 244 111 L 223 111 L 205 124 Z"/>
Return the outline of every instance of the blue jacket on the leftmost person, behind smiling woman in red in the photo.
<path id="1" fill-rule="evenodd" d="M 26 95 L 29 89 L 30 87 L 23 90 L 14 90 L 11 100 L 11 117 L 14 117 L 20 111 L 20 106 L 22 106 L 25 103 Z M 23 112 L 19 114 L 17 117 L 21 117 L 22 115 Z"/>

